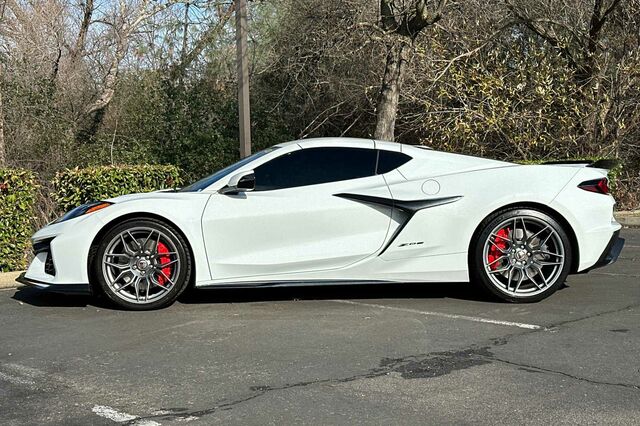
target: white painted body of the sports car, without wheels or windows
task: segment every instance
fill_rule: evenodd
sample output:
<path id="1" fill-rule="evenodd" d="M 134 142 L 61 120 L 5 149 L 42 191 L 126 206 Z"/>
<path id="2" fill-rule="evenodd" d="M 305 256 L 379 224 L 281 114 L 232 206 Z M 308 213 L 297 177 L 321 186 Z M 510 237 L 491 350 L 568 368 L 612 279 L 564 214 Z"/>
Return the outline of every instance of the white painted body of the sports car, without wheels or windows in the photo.
<path id="1" fill-rule="evenodd" d="M 23 281 L 84 292 L 92 245 L 107 227 L 134 216 L 161 218 L 183 233 L 196 287 L 467 281 L 474 232 L 510 205 L 544 209 L 567 225 L 575 243 L 574 273 L 597 266 L 620 229 L 613 197 L 578 188 L 606 177 L 606 170 L 584 164 L 518 165 L 366 139 L 277 147 L 199 192 L 125 195 L 108 200 L 108 208 L 42 228 L 32 239 L 49 249 L 36 255 Z M 411 159 L 358 179 L 220 192 L 237 173 L 313 147 L 392 151 Z M 49 255 L 55 275 L 45 272 Z"/>

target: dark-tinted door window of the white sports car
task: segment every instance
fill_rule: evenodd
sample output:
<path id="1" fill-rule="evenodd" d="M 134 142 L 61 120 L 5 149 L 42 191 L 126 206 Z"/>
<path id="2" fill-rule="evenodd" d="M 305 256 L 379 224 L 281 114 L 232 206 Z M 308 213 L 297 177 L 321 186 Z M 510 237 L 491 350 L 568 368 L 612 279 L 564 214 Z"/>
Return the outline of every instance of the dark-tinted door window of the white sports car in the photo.
<path id="1" fill-rule="evenodd" d="M 373 176 L 376 151 L 362 148 L 306 148 L 258 166 L 256 191 L 294 188 Z"/>

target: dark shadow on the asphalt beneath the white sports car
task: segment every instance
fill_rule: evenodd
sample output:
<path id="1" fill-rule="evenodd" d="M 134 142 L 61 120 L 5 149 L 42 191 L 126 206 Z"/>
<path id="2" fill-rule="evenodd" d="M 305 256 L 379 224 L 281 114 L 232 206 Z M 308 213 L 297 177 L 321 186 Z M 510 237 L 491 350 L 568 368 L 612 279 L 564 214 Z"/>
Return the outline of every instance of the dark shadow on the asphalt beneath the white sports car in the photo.
<path id="1" fill-rule="evenodd" d="M 287 300 L 331 299 L 458 299 L 498 302 L 470 283 L 393 283 L 318 285 L 264 288 L 191 288 L 178 299 L 183 304 L 249 303 Z M 12 299 L 38 307 L 119 308 L 105 297 L 68 295 L 18 287 Z"/>

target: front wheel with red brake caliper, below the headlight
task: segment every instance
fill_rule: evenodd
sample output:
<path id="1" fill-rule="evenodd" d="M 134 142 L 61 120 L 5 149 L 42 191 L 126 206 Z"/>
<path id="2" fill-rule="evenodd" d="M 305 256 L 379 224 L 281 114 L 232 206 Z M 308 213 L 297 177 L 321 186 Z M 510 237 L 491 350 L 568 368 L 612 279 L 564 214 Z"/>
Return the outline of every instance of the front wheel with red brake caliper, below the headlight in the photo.
<path id="1" fill-rule="evenodd" d="M 172 304 L 191 275 L 187 243 L 173 227 L 131 219 L 110 229 L 93 258 L 93 276 L 118 306 L 150 310 Z"/>

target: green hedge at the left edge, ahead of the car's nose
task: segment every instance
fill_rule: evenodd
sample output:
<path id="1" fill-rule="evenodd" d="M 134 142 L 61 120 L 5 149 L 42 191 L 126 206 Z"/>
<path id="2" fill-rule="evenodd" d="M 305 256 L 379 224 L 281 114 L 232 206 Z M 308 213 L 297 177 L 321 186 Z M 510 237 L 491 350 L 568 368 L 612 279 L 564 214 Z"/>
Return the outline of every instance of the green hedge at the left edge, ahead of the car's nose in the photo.
<path id="1" fill-rule="evenodd" d="M 0 272 L 26 267 L 37 189 L 34 173 L 0 168 Z"/>

